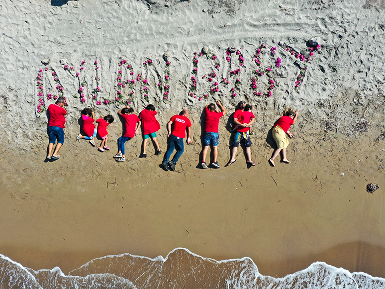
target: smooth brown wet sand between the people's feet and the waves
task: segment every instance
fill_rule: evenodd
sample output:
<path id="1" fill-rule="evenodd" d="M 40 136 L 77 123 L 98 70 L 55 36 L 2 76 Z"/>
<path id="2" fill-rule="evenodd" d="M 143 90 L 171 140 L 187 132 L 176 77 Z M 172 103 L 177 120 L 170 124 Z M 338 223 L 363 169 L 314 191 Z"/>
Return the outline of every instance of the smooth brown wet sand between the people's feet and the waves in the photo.
<path id="1" fill-rule="evenodd" d="M 5 165 L 12 153 L 1 154 L 0 252 L 25 267 L 68 273 L 105 255 L 165 257 L 184 247 L 216 260 L 250 257 L 275 277 L 315 261 L 384 277 L 383 196 L 366 192 L 373 180 L 383 187 L 381 146 L 359 138 L 335 162 L 293 143 L 289 165 L 271 168 L 255 146 L 256 167 L 247 169 L 239 150 L 234 165 L 218 170 L 196 169 L 188 146 L 176 172 L 158 168 L 157 156 L 102 167 L 104 154 L 85 152 L 78 162 L 69 145 L 47 164 L 42 153 L 27 153 Z M 224 164 L 223 146 L 219 154 Z"/>

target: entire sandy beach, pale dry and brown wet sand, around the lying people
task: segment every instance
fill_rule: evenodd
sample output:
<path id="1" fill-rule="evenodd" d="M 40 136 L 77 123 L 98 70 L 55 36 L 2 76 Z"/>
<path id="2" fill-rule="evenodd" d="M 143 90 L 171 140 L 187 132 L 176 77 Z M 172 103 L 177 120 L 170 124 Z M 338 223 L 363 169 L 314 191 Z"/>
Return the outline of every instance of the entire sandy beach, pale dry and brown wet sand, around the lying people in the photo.
<path id="1" fill-rule="evenodd" d="M 384 17 L 384 4 L 370 0 L 4 0 L 0 254 L 30 268 L 36 280 L 46 272 L 33 270 L 59 267 L 65 275 L 74 270 L 70 275 L 85 277 L 110 270 L 105 264 L 78 269 L 95 258 L 125 253 L 165 258 L 186 248 L 217 261 L 243 264 L 240 259 L 249 257 L 259 278 L 284 278 L 325 262 L 335 270 L 381 277 L 378 282 L 385 284 Z M 310 51 L 308 40 L 314 37 L 320 47 Z M 203 47 L 207 55 L 199 55 Z M 239 54 L 227 55 L 228 47 Z M 309 61 L 296 57 L 301 51 L 312 52 Z M 42 64 L 44 58 L 49 64 Z M 135 80 L 139 74 L 135 85 L 119 85 L 120 78 Z M 146 96 L 143 79 L 148 80 Z M 274 89 L 269 89 L 271 80 Z M 215 87 L 218 92 L 210 93 Z M 60 94 L 68 102 L 65 143 L 60 159 L 46 162 L 47 116 L 39 107 L 44 110 Z M 202 111 L 216 99 L 229 111 L 219 123 L 221 168 L 202 170 Z M 237 162 L 224 167 L 232 148 L 231 113 L 242 99 L 256 115 L 251 137 L 256 166 L 247 166 L 243 147 Z M 166 123 L 189 109 L 193 144 L 185 146 L 175 172 L 159 167 L 163 154 L 156 156 L 151 144 L 147 158 L 139 158 L 140 136 L 126 143 L 125 162 L 112 159 L 122 133 L 117 111 L 127 101 L 136 114 L 148 103 L 156 106 L 163 152 Z M 275 148 L 271 128 L 287 106 L 299 109 L 290 129 L 291 163 L 278 158 L 273 168 L 268 163 Z M 96 117 L 114 115 L 110 151 L 75 141 L 84 107 L 92 107 Z M 379 189 L 367 192 L 370 183 Z M 193 282 L 184 274 L 186 264 L 212 263 L 178 254 L 171 259 L 185 269 L 165 269 L 175 274 L 175 282 L 159 281 L 158 288 Z M 138 260 L 124 273 L 120 261 L 113 263 L 120 269 L 108 272 L 136 288 L 151 288 L 143 276 L 161 280 L 163 275 L 149 273 L 153 269 L 135 275 L 147 268 L 141 263 L 147 259 Z M 236 265 L 228 266 L 212 272 L 238 272 Z M 204 280 L 201 271 L 195 273 Z M 3 270 L 0 280 L 10 275 Z M 210 282 L 204 286 L 217 284 Z"/>

